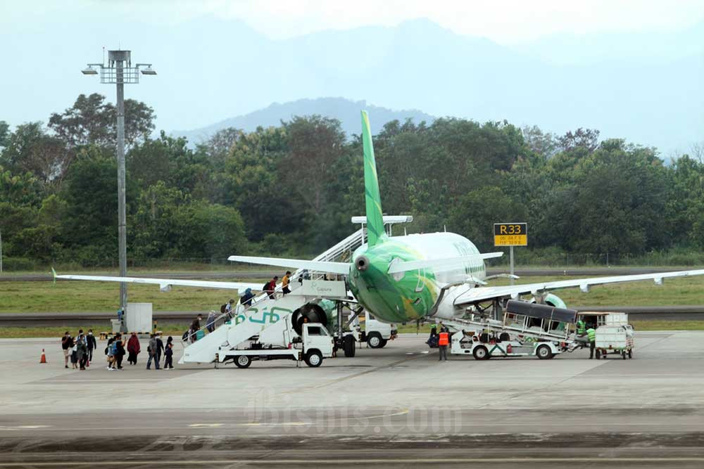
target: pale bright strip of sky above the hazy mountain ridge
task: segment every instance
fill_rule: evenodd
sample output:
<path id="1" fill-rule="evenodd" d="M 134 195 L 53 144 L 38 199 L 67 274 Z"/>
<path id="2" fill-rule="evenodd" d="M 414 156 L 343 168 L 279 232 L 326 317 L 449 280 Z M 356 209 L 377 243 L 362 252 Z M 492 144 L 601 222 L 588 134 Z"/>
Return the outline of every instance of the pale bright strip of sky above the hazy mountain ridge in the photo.
<path id="1" fill-rule="evenodd" d="M 677 30 L 704 19 L 703 0 L 73 0 L 2 1 L 0 24 L 21 30 L 37 16 L 129 15 L 179 23 L 200 15 L 244 20 L 272 39 L 327 29 L 429 18 L 458 34 L 519 44 L 559 32 Z"/>

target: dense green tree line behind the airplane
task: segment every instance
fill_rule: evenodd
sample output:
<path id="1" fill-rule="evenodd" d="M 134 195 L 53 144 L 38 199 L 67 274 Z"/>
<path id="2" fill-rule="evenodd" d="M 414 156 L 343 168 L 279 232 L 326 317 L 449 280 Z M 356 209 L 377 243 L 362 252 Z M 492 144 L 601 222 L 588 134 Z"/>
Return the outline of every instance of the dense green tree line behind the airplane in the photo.
<path id="1" fill-rule="evenodd" d="M 312 255 L 364 213 L 361 139 L 339 121 L 294 117 L 218 131 L 191 148 L 153 134 L 125 101 L 131 259 Z M 370 116 L 373 119 L 373 116 Z M 117 253 L 115 108 L 80 95 L 46 126 L 0 121 L 5 257 L 109 264 Z M 557 136 L 508 122 L 392 121 L 374 138 L 384 212 L 408 232 L 454 231 L 493 249 L 492 225 L 527 221 L 533 249 L 640 255 L 704 248 L 700 152 L 658 150 L 595 129 Z M 695 148 L 696 150 L 696 148 Z"/>

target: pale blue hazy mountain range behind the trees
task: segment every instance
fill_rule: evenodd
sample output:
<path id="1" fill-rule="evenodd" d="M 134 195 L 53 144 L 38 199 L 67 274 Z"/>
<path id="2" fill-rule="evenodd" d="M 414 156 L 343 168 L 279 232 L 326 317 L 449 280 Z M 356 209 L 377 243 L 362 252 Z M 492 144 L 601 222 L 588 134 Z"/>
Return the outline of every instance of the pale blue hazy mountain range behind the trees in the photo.
<path id="1" fill-rule="evenodd" d="M 112 101 L 113 88 L 80 70 L 100 60 L 101 45 L 121 44 L 132 49 L 134 62 L 153 63 L 159 74 L 128 86 L 125 96 L 149 103 L 157 128 L 168 131 L 200 131 L 233 118 L 247 128 L 259 117 L 256 124 L 277 124 L 281 116 L 307 113 L 306 100 L 342 96 L 367 108 L 508 120 L 556 134 L 589 127 L 603 138 L 657 146 L 665 155 L 704 139 L 703 23 L 505 45 L 427 19 L 270 39 L 237 19 L 202 15 L 174 24 L 135 20 L 130 8 L 123 10 L 110 21 L 91 8 L 61 18 L 37 11 L 21 28 L 0 28 L 0 40 L 23 44 L 4 51 L 13 70 L 37 70 L 41 63 L 51 73 L 51 79 L 6 75 L 0 119 L 46 120 L 79 93 L 101 92 Z M 277 106 L 278 116 L 263 113 Z M 384 119 L 370 109 L 375 127 Z"/>

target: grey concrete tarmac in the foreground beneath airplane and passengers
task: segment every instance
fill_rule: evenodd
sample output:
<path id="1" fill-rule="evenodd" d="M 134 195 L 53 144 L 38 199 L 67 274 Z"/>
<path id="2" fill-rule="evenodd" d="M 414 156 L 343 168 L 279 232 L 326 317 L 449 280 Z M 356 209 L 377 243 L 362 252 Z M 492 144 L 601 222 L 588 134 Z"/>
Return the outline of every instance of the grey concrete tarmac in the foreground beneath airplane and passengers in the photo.
<path id="1" fill-rule="evenodd" d="M 635 340 L 626 360 L 439 362 L 408 334 L 320 368 L 172 371 L 145 369 L 144 341 L 107 371 L 100 342 L 74 371 L 58 338 L 4 339 L 0 468 L 704 467 L 704 332 Z"/>

